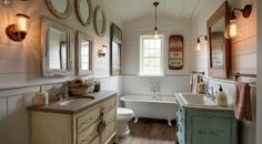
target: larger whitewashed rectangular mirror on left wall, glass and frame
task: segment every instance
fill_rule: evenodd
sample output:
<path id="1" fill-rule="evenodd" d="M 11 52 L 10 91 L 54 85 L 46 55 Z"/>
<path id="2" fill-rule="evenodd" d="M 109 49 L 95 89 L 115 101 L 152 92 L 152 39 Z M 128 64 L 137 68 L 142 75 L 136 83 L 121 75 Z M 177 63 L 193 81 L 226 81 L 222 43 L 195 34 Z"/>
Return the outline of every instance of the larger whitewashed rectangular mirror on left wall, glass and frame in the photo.
<path id="1" fill-rule="evenodd" d="M 73 30 L 48 18 L 42 18 L 42 70 L 44 76 L 72 74 Z"/>

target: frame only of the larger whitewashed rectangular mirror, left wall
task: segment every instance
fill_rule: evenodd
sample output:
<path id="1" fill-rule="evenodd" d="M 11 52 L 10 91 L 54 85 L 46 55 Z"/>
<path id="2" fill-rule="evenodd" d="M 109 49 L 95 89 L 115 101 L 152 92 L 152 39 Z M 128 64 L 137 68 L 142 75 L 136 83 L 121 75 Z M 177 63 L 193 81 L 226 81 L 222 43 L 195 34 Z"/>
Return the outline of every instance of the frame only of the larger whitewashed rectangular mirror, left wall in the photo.
<path id="1" fill-rule="evenodd" d="M 50 28 L 61 30 L 67 33 L 67 70 L 57 70 L 49 69 L 49 30 Z M 41 49 L 42 49 L 42 73 L 43 76 L 67 76 L 73 74 L 73 65 L 72 65 L 72 50 L 73 50 L 73 30 L 62 23 L 53 21 L 49 18 L 42 18 L 42 27 L 41 27 Z"/>

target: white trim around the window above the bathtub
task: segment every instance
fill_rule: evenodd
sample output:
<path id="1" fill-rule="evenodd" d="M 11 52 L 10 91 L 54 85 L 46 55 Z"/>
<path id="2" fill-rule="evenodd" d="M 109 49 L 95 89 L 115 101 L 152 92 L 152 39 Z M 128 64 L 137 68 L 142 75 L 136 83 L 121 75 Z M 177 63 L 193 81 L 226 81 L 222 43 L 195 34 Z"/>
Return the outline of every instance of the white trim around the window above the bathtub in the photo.
<path id="1" fill-rule="evenodd" d="M 142 73 L 142 40 L 144 38 L 153 38 L 153 35 L 140 35 L 140 41 L 139 41 L 139 75 L 140 76 L 163 76 L 164 75 L 164 35 L 163 34 L 159 34 L 159 38 L 161 39 L 161 50 L 160 50 L 160 74 L 148 74 L 148 73 Z"/>

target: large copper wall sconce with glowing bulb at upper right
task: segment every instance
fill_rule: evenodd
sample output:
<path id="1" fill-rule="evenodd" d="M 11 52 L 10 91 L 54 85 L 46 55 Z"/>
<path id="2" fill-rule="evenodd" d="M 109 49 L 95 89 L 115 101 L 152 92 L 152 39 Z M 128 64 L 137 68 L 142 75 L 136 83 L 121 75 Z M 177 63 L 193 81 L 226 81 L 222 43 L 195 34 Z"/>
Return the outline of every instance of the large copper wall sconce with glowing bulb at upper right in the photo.
<path id="1" fill-rule="evenodd" d="M 231 39 L 238 34 L 236 17 L 234 14 L 235 10 L 241 11 L 244 18 L 249 18 L 252 11 L 252 6 L 246 4 L 244 9 L 234 8 L 232 10 L 231 16 L 230 16 L 230 23 L 226 25 L 225 33 L 224 33 L 224 38 L 226 39 Z"/>

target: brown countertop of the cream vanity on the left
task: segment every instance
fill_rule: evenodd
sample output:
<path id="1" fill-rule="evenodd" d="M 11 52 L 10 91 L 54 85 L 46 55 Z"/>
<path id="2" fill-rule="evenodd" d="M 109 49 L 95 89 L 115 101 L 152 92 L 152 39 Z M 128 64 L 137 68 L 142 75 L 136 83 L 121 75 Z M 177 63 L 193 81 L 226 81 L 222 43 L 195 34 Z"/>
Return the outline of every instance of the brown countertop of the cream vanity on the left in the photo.
<path id="1" fill-rule="evenodd" d="M 64 100 L 58 101 L 58 102 L 53 102 L 49 105 L 46 106 L 29 106 L 28 110 L 29 111 L 43 111 L 43 112 L 53 112 L 53 113 L 64 113 L 64 114 L 73 114 L 77 112 L 80 112 L 84 109 L 88 109 L 97 103 L 99 103 L 100 101 L 110 97 L 112 95 L 117 94 L 117 91 L 100 91 L 100 92 L 95 92 L 95 93 L 88 93 L 87 95 L 89 96 L 93 96 L 93 100 L 90 100 L 87 103 L 74 103 L 74 104 L 66 104 L 66 105 L 61 105 L 61 102 L 64 102 Z"/>

